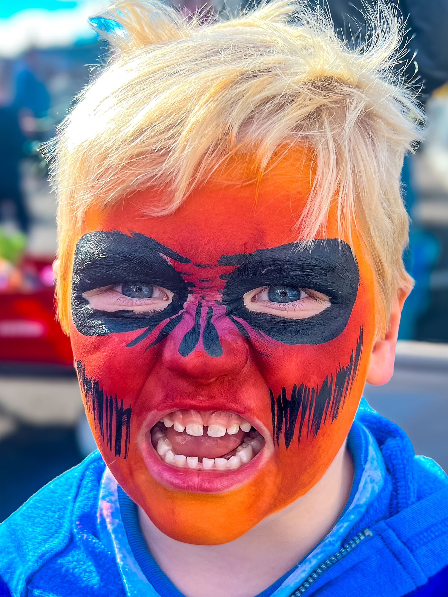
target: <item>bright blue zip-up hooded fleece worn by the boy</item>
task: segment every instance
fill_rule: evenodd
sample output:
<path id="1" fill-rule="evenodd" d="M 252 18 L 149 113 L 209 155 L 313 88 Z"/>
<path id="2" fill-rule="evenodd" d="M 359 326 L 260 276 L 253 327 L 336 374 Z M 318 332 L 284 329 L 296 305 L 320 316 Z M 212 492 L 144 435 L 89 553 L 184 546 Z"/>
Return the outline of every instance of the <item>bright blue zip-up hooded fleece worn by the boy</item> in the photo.
<path id="1" fill-rule="evenodd" d="M 365 401 L 356 423 L 375 438 L 386 480 L 337 552 L 291 597 L 448 596 L 446 475 L 434 461 L 415 457 L 406 434 Z M 96 451 L 0 525 L 0 597 L 126 597 L 115 555 L 100 538 L 104 472 Z M 148 595 L 158 595 L 151 584 Z"/>

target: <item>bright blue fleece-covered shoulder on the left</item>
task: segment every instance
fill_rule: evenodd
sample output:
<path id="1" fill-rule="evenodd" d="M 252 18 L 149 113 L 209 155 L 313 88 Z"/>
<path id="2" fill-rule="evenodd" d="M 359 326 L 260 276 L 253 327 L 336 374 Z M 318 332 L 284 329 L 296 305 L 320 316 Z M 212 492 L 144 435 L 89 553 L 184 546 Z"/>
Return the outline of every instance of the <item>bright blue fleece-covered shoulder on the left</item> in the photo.
<path id="1" fill-rule="evenodd" d="M 105 466 L 95 451 L 45 485 L 0 525 L 0 578 L 11 595 L 22 595 L 26 587 L 54 595 L 122 594 L 115 558 L 97 537 Z"/>

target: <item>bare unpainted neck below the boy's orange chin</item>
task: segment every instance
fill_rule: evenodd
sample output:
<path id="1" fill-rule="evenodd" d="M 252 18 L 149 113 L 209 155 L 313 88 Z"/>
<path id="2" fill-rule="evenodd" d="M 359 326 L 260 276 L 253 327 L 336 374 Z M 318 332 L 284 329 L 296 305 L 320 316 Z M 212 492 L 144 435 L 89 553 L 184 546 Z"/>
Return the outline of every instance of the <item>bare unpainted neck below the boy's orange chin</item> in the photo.
<path id="1" fill-rule="evenodd" d="M 329 533 L 352 482 L 353 464 L 344 444 L 305 496 L 230 543 L 180 543 L 161 533 L 139 507 L 140 528 L 158 565 L 186 597 L 253 597 Z"/>

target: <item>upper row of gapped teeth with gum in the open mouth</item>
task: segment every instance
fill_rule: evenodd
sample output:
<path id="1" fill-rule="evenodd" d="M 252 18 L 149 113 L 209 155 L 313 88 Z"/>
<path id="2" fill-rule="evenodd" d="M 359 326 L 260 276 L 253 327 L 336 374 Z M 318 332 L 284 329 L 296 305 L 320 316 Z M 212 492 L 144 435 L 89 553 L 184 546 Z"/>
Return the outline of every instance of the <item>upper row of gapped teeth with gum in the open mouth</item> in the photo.
<path id="1" fill-rule="evenodd" d="M 219 421 L 221 419 L 221 421 Z M 165 427 L 173 427 L 182 433 L 184 430 L 188 435 L 204 435 L 204 426 L 207 426 L 207 435 L 211 438 L 222 438 L 226 432 L 235 435 L 241 429 L 245 433 L 251 429 L 251 424 L 243 417 L 235 413 L 177 410 L 169 413 L 160 419 Z"/>

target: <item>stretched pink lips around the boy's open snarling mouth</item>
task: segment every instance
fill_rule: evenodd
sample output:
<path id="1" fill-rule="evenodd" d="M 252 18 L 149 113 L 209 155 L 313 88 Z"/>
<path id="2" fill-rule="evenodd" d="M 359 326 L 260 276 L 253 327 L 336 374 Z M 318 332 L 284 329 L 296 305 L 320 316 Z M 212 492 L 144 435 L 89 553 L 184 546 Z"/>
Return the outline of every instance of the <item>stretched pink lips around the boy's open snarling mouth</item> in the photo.
<path id="1" fill-rule="evenodd" d="M 151 440 L 148 439 L 148 434 L 152 427 L 169 413 L 176 410 L 182 410 L 185 406 L 177 408 L 170 408 L 166 411 L 153 411 L 147 418 L 142 430 L 139 433 L 140 451 L 145 461 L 146 468 L 156 481 L 164 487 L 180 491 L 189 491 L 191 493 L 223 493 L 231 491 L 237 487 L 246 484 L 260 469 L 265 466 L 266 461 L 274 453 L 274 444 L 266 427 L 253 417 L 248 417 L 245 413 L 238 413 L 244 417 L 251 426 L 263 436 L 265 445 L 260 452 L 247 464 L 244 464 L 237 470 L 194 470 L 194 469 L 180 469 L 161 460 L 157 451 L 152 447 Z M 191 406 L 187 407 L 191 408 Z M 222 408 L 207 408 L 207 410 L 223 410 Z"/>

